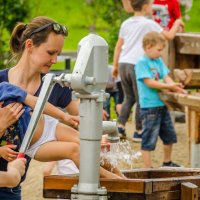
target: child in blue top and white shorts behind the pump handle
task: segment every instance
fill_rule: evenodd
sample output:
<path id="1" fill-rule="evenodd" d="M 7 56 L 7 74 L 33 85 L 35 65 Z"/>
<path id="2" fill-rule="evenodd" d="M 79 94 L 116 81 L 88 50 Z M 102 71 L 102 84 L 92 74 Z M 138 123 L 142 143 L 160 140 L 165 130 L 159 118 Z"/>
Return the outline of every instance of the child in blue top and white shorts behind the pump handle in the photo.
<path id="1" fill-rule="evenodd" d="M 36 99 L 37 97 L 27 94 L 15 85 L 11 85 L 7 82 L 0 83 L 0 101 L 4 101 L 5 104 L 12 100 L 20 103 L 23 102 L 34 108 Z M 1 137 L 1 148 L 4 148 L 5 142 L 7 142 L 8 146 L 8 140 L 10 140 L 10 144 L 17 145 L 17 150 L 19 149 L 19 140 L 23 139 L 23 134 L 25 134 L 23 131 L 25 131 L 25 126 L 28 125 L 30 119 L 30 109 L 24 108 L 25 112 L 21 116 L 23 117 L 22 120 L 17 121 L 18 123 L 16 126 L 12 125 L 12 127 L 9 127 Z M 54 112 L 52 112 L 52 105 L 49 103 L 47 103 L 44 112 L 57 118 L 60 118 L 63 113 L 62 111 L 59 112 L 59 109 L 57 112 L 55 112 L 55 109 Z M 58 123 L 58 120 L 47 115 L 42 115 L 26 154 L 31 158 L 43 162 L 69 158 L 79 167 L 79 134 L 75 129 Z M 10 161 L 10 159 L 16 156 L 17 153 L 12 150 L 12 152 L 8 153 L 7 157 L 4 156 L 4 159 Z M 110 175 L 110 177 L 119 177 L 105 169 L 101 169 L 100 174 L 103 177 L 109 177 Z"/>

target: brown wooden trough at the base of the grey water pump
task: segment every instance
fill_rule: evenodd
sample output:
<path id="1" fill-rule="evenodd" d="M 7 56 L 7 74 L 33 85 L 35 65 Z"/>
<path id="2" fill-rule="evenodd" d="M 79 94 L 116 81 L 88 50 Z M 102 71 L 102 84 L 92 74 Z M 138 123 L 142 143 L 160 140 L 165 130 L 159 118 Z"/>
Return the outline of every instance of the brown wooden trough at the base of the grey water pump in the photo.
<path id="1" fill-rule="evenodd" d="M 127 180 L 100 180 L 109 200 L 197 200 L 200 197 L 200 169 L 137 169 L 124 174 Z M 46 176 L 43 196 L 69 199 L 74 184 L 78 184 L 78 177 Z"/>

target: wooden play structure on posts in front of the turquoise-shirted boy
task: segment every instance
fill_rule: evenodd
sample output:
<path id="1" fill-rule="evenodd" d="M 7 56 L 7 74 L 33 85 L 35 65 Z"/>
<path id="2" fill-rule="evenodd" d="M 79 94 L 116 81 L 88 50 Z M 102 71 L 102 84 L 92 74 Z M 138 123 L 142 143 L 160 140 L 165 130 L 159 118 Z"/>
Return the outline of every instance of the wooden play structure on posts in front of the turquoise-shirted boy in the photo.
<path id="1" fill-rule="evenodd" d="M 168 55 L 173 78 L 189 92 L 162 93 L 161 98 L 170 110 L 185 112 L 191 167 L 200 167 L 200 34 L 177 34 Z"/>

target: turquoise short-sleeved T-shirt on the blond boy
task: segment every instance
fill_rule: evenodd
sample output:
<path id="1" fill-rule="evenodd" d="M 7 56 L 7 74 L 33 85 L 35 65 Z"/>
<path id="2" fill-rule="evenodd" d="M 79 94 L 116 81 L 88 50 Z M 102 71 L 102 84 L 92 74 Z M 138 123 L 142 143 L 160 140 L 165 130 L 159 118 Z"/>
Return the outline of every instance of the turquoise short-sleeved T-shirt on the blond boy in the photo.
<path id="1" fill-rule="evenodd" d="M 144 79 L 150 78 L 161 81 L 168 73 L 169 69 L 161 58 L 150 59 L 147 56 L 142 56 L 139 59 L 135 66 L 135 74 L 141 108 L 153 108 L 165 105 L 160 99 L 158 90 L 149 88 L 145 84 Z"/>

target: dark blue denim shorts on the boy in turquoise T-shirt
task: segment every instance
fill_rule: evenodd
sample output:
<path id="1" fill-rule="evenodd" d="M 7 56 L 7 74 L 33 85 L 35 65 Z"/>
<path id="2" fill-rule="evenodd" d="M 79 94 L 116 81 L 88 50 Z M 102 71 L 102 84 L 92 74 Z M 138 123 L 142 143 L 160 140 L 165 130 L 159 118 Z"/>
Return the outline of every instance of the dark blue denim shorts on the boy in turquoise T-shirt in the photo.
<path id="1" fill-rule="evenodd" d="M 140 118 L 142 120 L 142 150 L 155 150 L 158 136 L 165 145 L 177 142 L 175 129 L 166 106 L 141 108 Z"/>

